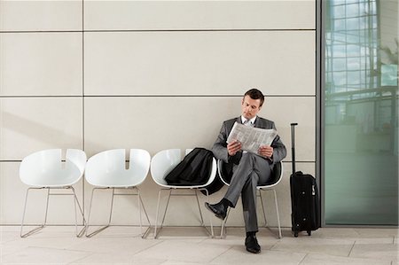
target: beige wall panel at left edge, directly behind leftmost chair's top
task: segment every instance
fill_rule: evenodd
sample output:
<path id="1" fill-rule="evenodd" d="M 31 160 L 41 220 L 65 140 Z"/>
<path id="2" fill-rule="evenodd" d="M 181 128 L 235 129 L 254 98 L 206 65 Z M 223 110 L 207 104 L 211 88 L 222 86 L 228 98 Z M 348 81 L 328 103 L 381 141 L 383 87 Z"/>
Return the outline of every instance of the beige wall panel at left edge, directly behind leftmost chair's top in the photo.
<path id="1" fill-rule="evenodd" d="M 82 148 L 82 98 L 0 99 L 0 160 L 49 148 Z"/>

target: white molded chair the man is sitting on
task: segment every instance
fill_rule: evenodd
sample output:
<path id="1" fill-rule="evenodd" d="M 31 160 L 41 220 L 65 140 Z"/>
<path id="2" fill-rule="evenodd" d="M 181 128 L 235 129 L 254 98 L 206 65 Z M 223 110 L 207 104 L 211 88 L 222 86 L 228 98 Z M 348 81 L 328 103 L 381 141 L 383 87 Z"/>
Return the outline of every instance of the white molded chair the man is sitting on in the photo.
<path id="1" fill-rule="evenodd" d="M 229 186 L 230 182 L 226 180 L 226 172 L 225 172 L 225 168 L 223 167 L 224 165 L 225 165 L 225 163 L 223 160 L 217 160 L 217 170 L 218 170 L 219 176 L 220 176 L 222 182 L 225 185 Z M 278 236 L 277 236 L 278 238 L 283 238 L 283 236 L 281 234 L 280 215 L 278 214 L 278 199 L 277 199 L 277 193 L 276 193 L 275 188 L 278 185 L 278 183 L 281 182 L 281 179 L 283 178 L 283 172 L 284 172 L 283 163 L 280 161 L 274 165 L 273 172 L 271 174 L 269 182 L 264 185 L 259 185 L 256 187 L 256 189 L 258 191 L 256 195 L 257 195 L 257 197 L 260 197 L 260 199 L 261 199 L 262 212 L 263 212 L 263 218 L 264 218 L 264 226 L 268 229 L 270 229 L 270 227 L 268 226 L 268 222 L 266 219 L 263 198 L 262 198 L 262 191 L 273 191 L 277 219 L 278 219 Z M 220 235 L 221 238 L 225 238 L 225 236 L 226 236 L 226 222 L 227 222 L 227 218 L 229 217 L 230 210 L 231 210 L 231 208 L 229 207 L 227 216 L 222 222 L 222 230 L 221 230 L 221 235 Z"/>

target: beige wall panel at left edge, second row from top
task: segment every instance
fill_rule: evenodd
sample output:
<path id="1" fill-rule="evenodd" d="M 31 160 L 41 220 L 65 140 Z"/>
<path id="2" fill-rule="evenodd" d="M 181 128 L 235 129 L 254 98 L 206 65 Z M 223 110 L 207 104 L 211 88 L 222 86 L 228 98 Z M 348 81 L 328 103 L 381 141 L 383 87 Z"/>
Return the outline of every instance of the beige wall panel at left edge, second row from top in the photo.
<path id="1" fill-rule="evenodd" d="M 82 95 L 82 33 L 0 34 L 0 94 Z"/>

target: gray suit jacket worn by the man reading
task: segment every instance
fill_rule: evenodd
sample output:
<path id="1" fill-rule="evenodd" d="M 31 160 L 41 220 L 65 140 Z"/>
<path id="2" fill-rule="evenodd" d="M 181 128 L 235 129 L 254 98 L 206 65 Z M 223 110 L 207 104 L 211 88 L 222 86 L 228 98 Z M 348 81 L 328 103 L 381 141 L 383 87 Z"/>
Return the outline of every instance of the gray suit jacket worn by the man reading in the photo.
<path id="1" fill-rule="evenodd" d="M 242 152 L 237 152 L 234 156 L 229 156 L 227 152 L 227 137 L 229 136 L 231 129 L 234 125 L 234 122 L 237 121 L 241 122 L 241 117 L 234 118 L 228 121 L 224 121 L 222 125 L 222 129 L 220 129 L 219 136 L 215 141 L 215 144 L 212 147 L 212 152 L 214 156 L 218 160 L 223 160 L 226 163 L 234 163 L 239 164 L 239 160 L 241 159 Z M 276 129 L 273 121 L 263 119 L 261 117 L 256 117 L 254 122 L 255 128 L 262 128 L 262 129 Z M 286 157 L 286 146 L 281 142 L 280 137 L 276 136 L 273 143 L 271 144 L 273 147 L 273 156 L 271 157 L 271 168 L 273 165 L 278 161 L 283 160 Z"/>

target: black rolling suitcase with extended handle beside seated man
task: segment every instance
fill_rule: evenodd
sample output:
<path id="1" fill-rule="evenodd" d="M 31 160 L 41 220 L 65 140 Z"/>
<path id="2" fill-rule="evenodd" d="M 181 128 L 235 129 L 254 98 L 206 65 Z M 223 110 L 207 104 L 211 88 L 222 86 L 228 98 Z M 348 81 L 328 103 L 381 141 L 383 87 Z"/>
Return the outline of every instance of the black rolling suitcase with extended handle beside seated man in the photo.
<path id="1" fill-rule="evenodd" d="M 301 231 L 307 231 L 310 236 L 312 230 L 317 230 L 320 227 L 320 214 L 316 179 L 312 175 L 295 171 L 295 125 L 298 123 L 291 123 L 293 175 L 290 176 L 290 187 L 292 230 L 296 238 Z"/>

